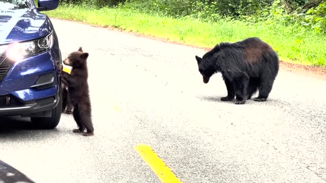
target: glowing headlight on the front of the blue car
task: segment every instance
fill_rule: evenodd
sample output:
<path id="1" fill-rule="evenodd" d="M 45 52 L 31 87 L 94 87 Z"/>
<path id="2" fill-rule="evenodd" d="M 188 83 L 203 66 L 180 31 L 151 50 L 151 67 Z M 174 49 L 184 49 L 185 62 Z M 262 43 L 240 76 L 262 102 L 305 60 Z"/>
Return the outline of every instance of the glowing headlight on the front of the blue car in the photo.
<path id="1" fill-rule="evenodd" d="M 11 43 L 6 49 L 6 55 L 12 60 L 19 60 L 25 57 L 29 57 L 40 53 L 42 51 L 48 50 L 53 45 L 53 36 L 49 34 L 48 36 L 28 42 L 22 43 Z"/>

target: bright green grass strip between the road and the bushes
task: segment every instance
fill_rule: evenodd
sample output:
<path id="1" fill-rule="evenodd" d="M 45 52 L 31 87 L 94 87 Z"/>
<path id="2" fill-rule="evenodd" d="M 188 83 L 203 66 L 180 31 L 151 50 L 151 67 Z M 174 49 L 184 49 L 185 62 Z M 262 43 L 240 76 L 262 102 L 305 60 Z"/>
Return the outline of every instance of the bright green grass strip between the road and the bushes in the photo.
<path id="1" fill-rule="evenodd" d="M 126 8 L 86 9 L 83 6 L 59 5 L 44 12 L 49 17 L 113 26 L 125 31 L 168 38 L 200 47 L 220 42 L 235 42 L 259 37 L 270 44 L 285 62 L 326 67 L 326 37 L 312 30 L 295 34 L 296 28 L 278 23 L 248 25 L 246 22 L 221 19 L 208 23 L 198 19 L 149 15 Z M 283 59 L 284 58 L 284 59 Z"/>

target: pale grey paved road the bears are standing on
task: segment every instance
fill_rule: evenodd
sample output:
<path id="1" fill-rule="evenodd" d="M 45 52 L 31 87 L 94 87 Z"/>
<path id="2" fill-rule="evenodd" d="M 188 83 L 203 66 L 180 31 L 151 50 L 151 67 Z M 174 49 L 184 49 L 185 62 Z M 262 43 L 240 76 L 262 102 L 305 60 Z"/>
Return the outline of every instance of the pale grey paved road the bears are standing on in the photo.
<path id="1" fill-rule="evenodd" d="M 7 118 L 0 159 L 36 182 L 160 182 L 138 143 L 182 182 L 326 182 L 325 81 L 281 71 L 268 102 L 221 102 L 221 75 L 197 70 L 204 50 L 52 21 L 63 56 L 90 53 L 95 136 L 73 134 L 71 115 L 49 131 Z"/>

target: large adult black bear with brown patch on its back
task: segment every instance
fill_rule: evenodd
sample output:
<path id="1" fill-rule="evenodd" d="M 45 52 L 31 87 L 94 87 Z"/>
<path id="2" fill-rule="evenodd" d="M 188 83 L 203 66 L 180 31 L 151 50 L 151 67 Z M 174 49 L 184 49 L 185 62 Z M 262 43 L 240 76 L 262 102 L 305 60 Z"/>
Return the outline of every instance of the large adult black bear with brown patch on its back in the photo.
<path id="1" fill-rule="evenodd" d="M 257 37 L 235 43 L 222 42 L 206 52 L 203 57 L 195 56 L 203 82 L 221 72 L 228 96 L 222 101 L 244 104 L 256 93 L 254 101 L 266 101 L 279 72 L 279 57 L 265 42 Z"/>

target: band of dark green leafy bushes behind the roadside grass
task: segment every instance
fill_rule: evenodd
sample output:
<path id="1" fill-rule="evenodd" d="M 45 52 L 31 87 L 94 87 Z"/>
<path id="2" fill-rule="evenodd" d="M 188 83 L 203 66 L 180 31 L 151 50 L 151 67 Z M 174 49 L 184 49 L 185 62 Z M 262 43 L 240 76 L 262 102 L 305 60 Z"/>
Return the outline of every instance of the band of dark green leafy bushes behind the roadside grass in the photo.
<path id="1" fill-rule="evenodd" d="M 287 34 L 314 30 L 326 33 L 326 1 L 322 0 L 61 0 L 85 8 L 117 6 L 133 12 L 172 18 L 195 18 L 206 22 L 237 19 L 247 24 L 278 28 L 288 26 Z M 319 5 L 319 6 L 318 6 Z M 305 9 L 307 8 L 308 9 Z M 310 8 L 312 7 L 312 8 Z"/>

